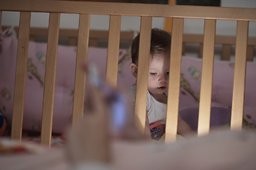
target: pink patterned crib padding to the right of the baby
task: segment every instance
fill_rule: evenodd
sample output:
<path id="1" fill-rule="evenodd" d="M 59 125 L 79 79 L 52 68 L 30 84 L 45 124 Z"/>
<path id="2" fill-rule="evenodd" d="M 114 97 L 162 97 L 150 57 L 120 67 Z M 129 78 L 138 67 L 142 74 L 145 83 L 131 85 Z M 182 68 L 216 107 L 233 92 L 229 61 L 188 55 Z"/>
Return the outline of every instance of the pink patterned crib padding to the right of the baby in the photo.
<path id="1" fill-rule="evenodd" d="M 201 88 L 202 60 L 192 57 L 182 57 L 181 77 L 183 77 L 185 89 L 180 90 L 179 109 L 198 108 Z M 256 123 L 256 62 L 247 62 L 245 79 L 244 116 L 249 123 Z M 211 107 L 232 108 L 234 62 L 215 61 L 213 65 L 213 89 Z"/>

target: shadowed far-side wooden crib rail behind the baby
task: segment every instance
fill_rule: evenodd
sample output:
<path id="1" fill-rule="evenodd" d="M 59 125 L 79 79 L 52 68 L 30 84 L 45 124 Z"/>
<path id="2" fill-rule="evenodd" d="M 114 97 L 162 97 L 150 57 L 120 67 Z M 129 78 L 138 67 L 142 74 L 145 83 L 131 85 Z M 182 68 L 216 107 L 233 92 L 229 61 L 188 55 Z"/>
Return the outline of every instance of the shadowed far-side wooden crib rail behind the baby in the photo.
<path id="1" fill-rule="evenodd" d="M 6 30 L 11 26 L 2 26 L 2 30 Z M 18 27 L 14 27 L 14 30 L 18 34 Z M 47 37 L 48 28 L 30 28 L 29 40 L 36 41 L 37 38 Z M 78 29 L 65 29 L 60 28 L 59 38 L 68 38 L 68 45 L 78 45 Z M 108 40 L 108 30 L 90 30 L 89 34 L 89 47 L 98 47 L 101 41 Z M 121 41 L 129 42 L 132 44 L 134 39 L 133 31 L 120 31 L 120 44 Z M 235 45 L 236 36 L 232 35 L 215 35 L 215 45 L 222 45 L 220 60 L 230 61 L 231 58 L 231 46 Z M 183 34 L 183 46 L 182 55 L 186 56 L 187 44 L 199 44 L 198 57 L 203 57 L 203 35 L 200 34 Z M 60 44 L 60 42 L 59 42 Z M 247 61 L 252 62 L 254 58 L 254 49 L 256 47 L 256 37 L 248 37 L 247 44 Z"/>

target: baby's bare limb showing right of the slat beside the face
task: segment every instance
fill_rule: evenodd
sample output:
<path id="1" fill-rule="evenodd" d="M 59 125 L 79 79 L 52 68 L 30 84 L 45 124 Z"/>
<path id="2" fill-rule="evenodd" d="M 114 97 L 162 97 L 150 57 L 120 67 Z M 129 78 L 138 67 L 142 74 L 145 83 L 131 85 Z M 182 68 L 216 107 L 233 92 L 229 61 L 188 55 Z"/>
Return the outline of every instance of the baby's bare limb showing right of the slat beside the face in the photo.
<path id="1" fill-rule="evenodd" d="M 194 132 L 191 127 L 186 123 L 182 118 L 181 115 L 178 113 L 178 129 L 177 132 L 179 135 L 182 135 L 183 137 L 190 138 L 196 135 L 196 132 Z"/>

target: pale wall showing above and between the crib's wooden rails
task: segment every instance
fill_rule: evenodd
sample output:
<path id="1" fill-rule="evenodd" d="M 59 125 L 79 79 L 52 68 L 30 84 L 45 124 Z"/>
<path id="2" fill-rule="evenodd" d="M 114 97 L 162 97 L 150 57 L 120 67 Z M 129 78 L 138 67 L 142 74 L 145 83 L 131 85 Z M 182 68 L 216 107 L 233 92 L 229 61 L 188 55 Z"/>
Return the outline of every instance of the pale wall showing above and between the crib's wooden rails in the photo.
<path id="1" fill-rule="evenodd" d="M 221 0 L 221 6 L 256 8 L 255 0 Z M 3 12 L 2 26 L 18 26 L 18 12 Z M 164 18 L 153 18 L 152 28 L 164 28 Z M 122 16 L 121 30 L 139 31 L 140 18 L 134 16 Z M 107 30 L 108 16 L 91 16 L 90 28 L 95 30 Z M 48 13 L 32 13 L 31 27 L 48 27 Z M 78 28 L 78 15 L 62 13 L 60 16 L 60 28 Z M 203 20 L 185 19 L 184 33 L 203 33 Z M 217 21 L 216 34 L 235 35 L 235 21 Z M 250 22 L 249 35 L 256 36 L 256 22 Z"/>

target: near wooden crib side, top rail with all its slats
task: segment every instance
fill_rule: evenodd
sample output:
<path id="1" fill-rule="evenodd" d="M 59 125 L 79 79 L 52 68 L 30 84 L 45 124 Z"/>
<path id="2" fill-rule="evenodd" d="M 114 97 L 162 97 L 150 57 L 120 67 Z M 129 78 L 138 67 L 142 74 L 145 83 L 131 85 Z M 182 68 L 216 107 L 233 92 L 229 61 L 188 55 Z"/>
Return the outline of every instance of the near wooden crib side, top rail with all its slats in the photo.
<path id="1" fill-rule="evenodd" d="M 48 47 L 46 54 L 46 77 L 43 95 L 43 119 L 41 130 L 42 144 L 50 145 L 52 132 L 55 67 L 58 49 L 60 13 L 78 13 L 80 15 L 73 101 L 73 123 L 75 123 L 75 120 L 82 118 L 84 108 L 85 72 L 82 72 L 79 66 L 81 62 L 87 60 L 87 47 L 90 36 L 90 15 L 100 14 L 110 16 L 106 79 L 108 83 L 112 84 L 112 86 L 117 84 L 121 17 L 141 17 L 139 70 L 135 103 L 136 116 L 134 120 L 141 132 L 144 132 L 146 118 L 146 86 L 149 70 L 149 47 L 152 17 L 173 18 L 166 117 L 166 142 L 176 140 L 184 18 L 201 18 L 205 20 L 198 135 L 207 134 L 210 126 L 210 99 L 213 80 L 216 20 L 237 21 L 231 130 L 240 130 L 242 128 L 248 25 L 250 21 L 256 21 L 255 8 L 119 4 L 88 1 L 2 0 L 0 1 L 0 18 L 1 11 L 21 12 L 18 30 L 19 36 L 14 89 L 14 113 L 11 128 L 11 138 L 13 140 L 21 140 L 31 12 L 50 13 L 48 23 Z"/>

